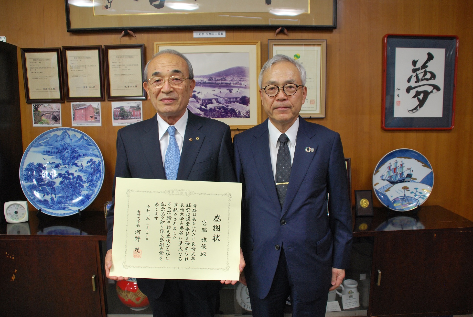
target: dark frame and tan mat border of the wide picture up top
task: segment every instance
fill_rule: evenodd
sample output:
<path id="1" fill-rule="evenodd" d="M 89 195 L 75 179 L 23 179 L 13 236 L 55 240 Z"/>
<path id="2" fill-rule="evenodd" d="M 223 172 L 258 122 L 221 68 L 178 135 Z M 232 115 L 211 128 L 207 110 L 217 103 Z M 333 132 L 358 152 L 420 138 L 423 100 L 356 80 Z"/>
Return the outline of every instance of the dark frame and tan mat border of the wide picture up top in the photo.
<path id="1" fill-rule="evenodd" d="M 265 0 L 258 1 L 264 3 Z M 112 4 L 111 2 L 110 4 Z M 130 6 L 134 2 L 136 1 L 131 1 Z M 156 0 L 155 2 L 164 4 L 164 1 Z M 124 29 L 132 31 L 156 29 L 222 30 L 255 27 L 274 29 L 282 26 L 293 29 L 337 28 L 337 0 L 307 0 L 307 2 L 309 12 L 298 14 L 298 18 L 288 19 L 278 18 L 277 13 L 270 12 L 192 12 L 188 10 L 185 13 L 182 10 L 175 13 L 159 12 L 162 9 L 155 9 L 158 8 L 155 6 L 158 3 L 155 5 L 149 3 L 147 7 L 153 12 L 143 12 L 144 14 L 131 12 L 120 15 L 100 15 L 96 14 L 96 10 L 102 10 L 105 6 L 98 5 L 95 8 L 75 6 L 71 5 L 68 0 L 64 0 L 68 32 L 123 31 Z M 133 11 L 133 8 L 130 10 Z"/>

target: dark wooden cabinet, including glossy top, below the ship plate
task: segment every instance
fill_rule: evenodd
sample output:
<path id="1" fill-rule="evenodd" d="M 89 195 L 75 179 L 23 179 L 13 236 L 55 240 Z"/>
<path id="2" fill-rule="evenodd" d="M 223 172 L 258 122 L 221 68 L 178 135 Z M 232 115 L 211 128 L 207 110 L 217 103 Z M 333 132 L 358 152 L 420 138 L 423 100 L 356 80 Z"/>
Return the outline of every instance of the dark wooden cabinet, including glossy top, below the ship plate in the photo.
<path id="1" fill-rule="evenodd" d="M 374 237 L 368 316 L 472 314 L 473 222 L 422 206 L 375 208 L 374 217 L 354 223 L 355 236 Z"/>

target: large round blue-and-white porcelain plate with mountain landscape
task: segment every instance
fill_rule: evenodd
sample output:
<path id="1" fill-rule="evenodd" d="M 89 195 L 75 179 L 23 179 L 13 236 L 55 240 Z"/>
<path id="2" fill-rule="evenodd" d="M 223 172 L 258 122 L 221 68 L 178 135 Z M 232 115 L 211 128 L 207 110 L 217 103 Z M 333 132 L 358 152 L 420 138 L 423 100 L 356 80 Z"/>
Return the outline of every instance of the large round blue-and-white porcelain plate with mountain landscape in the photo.
<path id="1" fill-rule="evenodd" d="M 84 210 L 104 182 L 104 158 L 90 136 L 58 127 L 37 136 L 20 163 L 21 188 L 29 202 L 51 216 Z"/>

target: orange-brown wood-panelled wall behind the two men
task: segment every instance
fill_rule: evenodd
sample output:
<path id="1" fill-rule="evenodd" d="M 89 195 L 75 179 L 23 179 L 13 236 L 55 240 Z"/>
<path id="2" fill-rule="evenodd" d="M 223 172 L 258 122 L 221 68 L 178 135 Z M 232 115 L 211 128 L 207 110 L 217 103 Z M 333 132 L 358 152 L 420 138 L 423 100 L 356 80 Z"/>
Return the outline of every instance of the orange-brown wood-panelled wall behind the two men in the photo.
<path id="1" fill-rule="evenodd" d="M 19 47 L 111 45 L 144 43 L 149 59 L 153 43 L 160 41 L 206 41 L 194 39 L 191 30 L 139 31 L 137 39 L 120 41 L 119 32 L 71 34 L 66 32 L 63 0 L 2 1 L 0 35 Z M 326 118 L 309 119 L 342 136 L 344 153 L 352 159 L 353 190 L 371 189 L 373 170 L 381 157 L 396 148 L 412 148 L 432 164 L 435 184 L 428 205 L 441 205 L 473 220 L 473 2 L 471 0 L 339 0 L 334 30 L 294 30 L 289 36 L 274 29 L 227 29 L 226 40 L 261 41 L 261 61 L 268 58 L 268 39 L 327 39 Z M 381 129 L 382 38 L 387 33 L 449 34 L 460 40 L 455 128 L 452 131 L 390 131 Z M 23 74 L 19 68 L 20 87 Z M 20 88 L 23 147 L 47 128 L 32 127 L 31 105 Z M 62 125 L 71 126 L 70 103 L 61 106 Z M 111 103 L 102 102 L 102 127 L 79 127 L 99 145 L 105 157 L 105 183 L 89 209 L 101 210 L 111 199 L 115 164 L 115 138 Z M 143 101 L 143 117 L 155 111 Z M 263 119 L 267 118 L 263 113 Z M 233 134 L 238 131 L 232 132 Z M 376 206 L 380 206 L 375 199 Z"/>

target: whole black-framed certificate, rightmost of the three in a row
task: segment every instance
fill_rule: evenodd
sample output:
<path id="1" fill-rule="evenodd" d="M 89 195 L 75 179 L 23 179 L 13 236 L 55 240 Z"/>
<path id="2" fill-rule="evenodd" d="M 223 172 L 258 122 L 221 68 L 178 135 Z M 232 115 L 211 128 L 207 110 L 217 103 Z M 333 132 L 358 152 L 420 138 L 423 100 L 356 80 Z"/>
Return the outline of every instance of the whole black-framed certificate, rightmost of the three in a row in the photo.
<path id="1" fill-rule="evenodd" d="M 144 100 L 144 44 L 104 45 L 107 100 Z"/>

